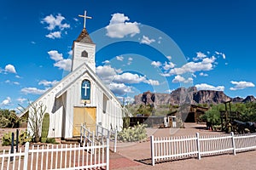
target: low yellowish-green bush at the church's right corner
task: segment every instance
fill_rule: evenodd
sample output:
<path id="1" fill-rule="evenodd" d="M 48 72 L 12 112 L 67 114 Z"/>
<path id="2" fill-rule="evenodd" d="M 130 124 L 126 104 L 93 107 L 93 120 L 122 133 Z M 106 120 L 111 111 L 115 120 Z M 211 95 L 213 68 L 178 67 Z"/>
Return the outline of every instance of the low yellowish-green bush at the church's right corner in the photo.
<path id="1" fill-rule="evenodd" d="M 146 139 L 147 131 L 146 125 L 137 124 L 134 127 L 123 128 L 121 132 L 118 133 L 118 140 L 123 142 L 136 142 Z"/>

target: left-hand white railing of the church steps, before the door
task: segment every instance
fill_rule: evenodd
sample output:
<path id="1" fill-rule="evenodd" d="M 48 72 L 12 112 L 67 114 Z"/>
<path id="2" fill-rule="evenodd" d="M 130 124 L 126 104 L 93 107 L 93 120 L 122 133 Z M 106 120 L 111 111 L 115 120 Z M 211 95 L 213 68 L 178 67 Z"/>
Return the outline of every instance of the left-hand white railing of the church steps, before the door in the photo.
<path id="1" fill-rule="evenodd" d="M 91 145 L 95 143 L 95 132 L 90 132 L 90 129 L 82 124 L 80 128 L 80 144 L 84 146 L 86 143 Z M 92 151 L 92 153 L 94 152 Z"/>

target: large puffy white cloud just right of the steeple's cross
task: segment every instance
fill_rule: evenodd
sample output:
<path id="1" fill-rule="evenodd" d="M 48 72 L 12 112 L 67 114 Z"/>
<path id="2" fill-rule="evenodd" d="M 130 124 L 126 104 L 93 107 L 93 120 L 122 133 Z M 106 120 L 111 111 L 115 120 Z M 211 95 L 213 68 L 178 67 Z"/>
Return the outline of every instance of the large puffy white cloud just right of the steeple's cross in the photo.
<path id="1" fill-rule="evenodd" d="M 125 36 L 130 35 L 131 37 L 135 36 L 137 33 L 140 32 L 138 28 L 137 22 L 127 22 L 130 20 L 125 14 L 112 14 L 112 19 L 107 29 L 107 36 L 108 37 L 116 37 L 116 38 L 123 38 Z"/>

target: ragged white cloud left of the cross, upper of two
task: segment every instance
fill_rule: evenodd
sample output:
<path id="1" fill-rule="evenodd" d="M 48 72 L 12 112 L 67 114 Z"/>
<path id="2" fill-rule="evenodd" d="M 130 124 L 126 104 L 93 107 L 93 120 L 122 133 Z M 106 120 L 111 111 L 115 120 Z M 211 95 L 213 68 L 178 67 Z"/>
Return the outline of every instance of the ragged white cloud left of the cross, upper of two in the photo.
<path id="1" fill-rule="evenodd" d="M 58 27 L 60 30 L 63 30 L 65 28 L 69 28 L 70 26 L 67 23 L 62 24 L 62 20 L 65 20 L 65 17 L 61 16 L 61 14 L 58 14 L 56 16 L 53 16 L 52 14 L 46 16 L 41 23 L 48 24 L 47 30 L 52 31 L 55 30 L 55 27 Z"/>

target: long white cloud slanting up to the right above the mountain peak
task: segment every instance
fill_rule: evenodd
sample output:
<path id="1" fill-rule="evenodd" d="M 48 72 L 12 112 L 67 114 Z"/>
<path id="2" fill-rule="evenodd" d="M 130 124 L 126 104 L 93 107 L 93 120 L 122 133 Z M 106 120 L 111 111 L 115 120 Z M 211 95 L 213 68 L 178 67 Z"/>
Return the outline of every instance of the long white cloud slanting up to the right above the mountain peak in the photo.
<path id="1" fill-rule="evenodd" d="M 183 65 L 180 68 L 173 68 L 167 76 L 172 75 L 181 75 L 187 72 L 194 73 L 196 71 L 211 71 L 213 68 L 212 63 L 215 61 L 215 57 L 212 56 L 212 58 L 205 58 L 201 62 L 195 63 L 195 62 L 189 62 Z"/>

